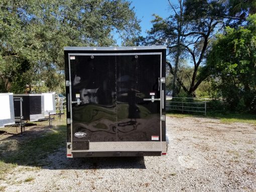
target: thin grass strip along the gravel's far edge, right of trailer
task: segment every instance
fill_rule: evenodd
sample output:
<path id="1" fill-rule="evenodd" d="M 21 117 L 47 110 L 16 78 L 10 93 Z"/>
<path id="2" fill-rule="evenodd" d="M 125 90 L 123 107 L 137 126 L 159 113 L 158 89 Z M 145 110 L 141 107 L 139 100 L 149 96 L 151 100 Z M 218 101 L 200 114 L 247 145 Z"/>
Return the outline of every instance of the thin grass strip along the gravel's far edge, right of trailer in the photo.
<path id="1" fill-rule="evenodd" d="M 177 117 L 177 118 L 184 118 L 184 117 L 213 117 L 220 119 L 222 123 L 250 123 L 256 126 L 256 115 L 255 114 L 248 114 L 248 113 L 207 113 L 206 116 L 204 115 L 197 115 L 197 114 L 179 114 L 179 113 L 167 113 L 167 116 Z"/>

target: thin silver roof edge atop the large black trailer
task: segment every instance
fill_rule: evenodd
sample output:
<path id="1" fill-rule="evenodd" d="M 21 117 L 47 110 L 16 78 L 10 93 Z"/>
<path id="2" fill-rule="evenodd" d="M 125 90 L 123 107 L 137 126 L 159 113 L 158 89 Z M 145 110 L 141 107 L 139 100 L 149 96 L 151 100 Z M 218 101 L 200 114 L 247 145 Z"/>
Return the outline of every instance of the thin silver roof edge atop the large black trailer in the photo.
<path id="1" fill-rule="evenodd" d="M 166 45 L 161 46 L 135 46 L 135 47 L 64 47 L 64 51 L 126 51 L 126 50 L 154 50 L 167 49 Z"/>

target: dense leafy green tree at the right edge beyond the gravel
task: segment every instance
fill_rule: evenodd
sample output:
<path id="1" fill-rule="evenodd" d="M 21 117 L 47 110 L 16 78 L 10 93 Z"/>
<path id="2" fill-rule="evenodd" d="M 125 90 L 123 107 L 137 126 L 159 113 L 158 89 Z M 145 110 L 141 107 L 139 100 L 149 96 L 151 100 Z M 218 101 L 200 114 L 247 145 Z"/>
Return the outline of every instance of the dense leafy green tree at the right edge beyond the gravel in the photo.
<path id="1" fill-rule="evenodd" d="M 218 35 L 207 58 L 215 87 L 231 110 L 256 110 L 256 15 L 247 21 Z"/>

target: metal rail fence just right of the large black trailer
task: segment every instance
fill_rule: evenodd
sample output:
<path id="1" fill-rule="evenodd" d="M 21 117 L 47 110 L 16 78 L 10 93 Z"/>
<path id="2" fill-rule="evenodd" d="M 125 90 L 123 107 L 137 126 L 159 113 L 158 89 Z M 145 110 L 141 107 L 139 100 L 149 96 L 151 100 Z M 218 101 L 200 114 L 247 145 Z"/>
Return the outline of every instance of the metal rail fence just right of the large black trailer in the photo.
<path id="1" fill-rule="evenodd" d="M 197 112 L 206 115 L 206 99 L 171 97 L 166 101 L 167 111 Z"/>

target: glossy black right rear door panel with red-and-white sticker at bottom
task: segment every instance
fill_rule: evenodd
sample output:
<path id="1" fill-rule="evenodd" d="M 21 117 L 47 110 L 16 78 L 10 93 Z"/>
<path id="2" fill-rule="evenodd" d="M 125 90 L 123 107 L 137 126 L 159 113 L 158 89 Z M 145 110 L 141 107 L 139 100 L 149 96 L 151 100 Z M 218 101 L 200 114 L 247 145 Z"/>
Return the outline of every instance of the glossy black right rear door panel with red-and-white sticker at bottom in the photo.
<path id="1" fill-rule="evenodd" d="M 116 58 L 118 141 L 161 140 L 160 100 L 144 101 L 160 99 L 160 63 L 160 54 Z"/>

